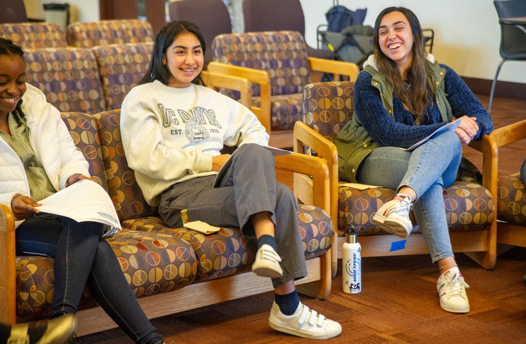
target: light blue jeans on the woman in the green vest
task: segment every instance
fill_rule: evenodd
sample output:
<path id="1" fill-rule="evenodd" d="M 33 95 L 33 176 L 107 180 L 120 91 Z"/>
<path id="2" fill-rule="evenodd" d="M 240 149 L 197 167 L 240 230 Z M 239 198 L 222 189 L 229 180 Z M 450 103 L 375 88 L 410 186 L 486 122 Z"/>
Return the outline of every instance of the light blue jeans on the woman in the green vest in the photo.
<path id="1" fill-rule="evenodd" d="M 413 215 L 426 240 L 431 259 L 453 257 L 442 188 L 451 186 L 462 158 L 457 134 L 447 131 L 432 137 L 413 151 L 380 147 L 362 161 L 357 180 L 400 190 L 409 186 L 417 193 Z"/>

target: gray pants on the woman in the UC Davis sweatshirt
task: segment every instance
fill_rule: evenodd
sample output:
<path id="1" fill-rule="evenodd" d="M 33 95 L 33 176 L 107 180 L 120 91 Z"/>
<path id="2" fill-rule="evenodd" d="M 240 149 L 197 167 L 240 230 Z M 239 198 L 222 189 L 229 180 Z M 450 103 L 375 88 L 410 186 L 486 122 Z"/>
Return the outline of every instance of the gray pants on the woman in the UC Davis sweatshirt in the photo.
<path id="1" fill-rule="evenodd" d="M 298 225 L 296 197 L 276 183 L 274 156 L 257 144 L 240 146 L 225 174 L 199 177 L 175 184 L 160 195 L 159 214 L 167 225 L 183 227 L 180 211 L 187 209 L 189 221 L 204 221 L 217 227 L 241 228 L 255 237 L 250 215 L 268 211 L 282 259 L 283 276 L 272 278 L 276 288 L 292 279 L 307 276 L 305 254 Z"/>

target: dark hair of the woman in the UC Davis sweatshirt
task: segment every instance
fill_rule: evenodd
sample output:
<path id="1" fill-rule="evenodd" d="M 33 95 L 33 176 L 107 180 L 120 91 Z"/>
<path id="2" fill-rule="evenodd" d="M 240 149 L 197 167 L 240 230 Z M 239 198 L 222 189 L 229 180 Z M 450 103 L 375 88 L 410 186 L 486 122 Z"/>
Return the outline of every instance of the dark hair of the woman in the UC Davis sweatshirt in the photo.
<path id="1" fill-rule="evenodd" d="M 151 53 L 151 62 L 148 72 L 139 81 L 138 85 L 147 84 L 159 80 L 161 83 L 167 85 L 170 80 L 170 70 L 168 66 L 163 64 L 163 58 L 166 54 L 166 49 L 174 42 L 174 39 L 180 34 L 193 33 L 196 35 L 199 43 L 201 44 L 201 50 L 203 50 L 203 56 L 205 55 L 206 44 L 203 35 L 199 32 L 199 28 L 194 23 L 188 21 L 173 21 L 166 24 L 160 29 L 157 37 L 155 38 L 154 51 Z M 203 69 L 205 69 L 203 67 Z M 203 77 L 201 76 L 203 70 L 192 80 L 193 84 L 205 86 Z"/>

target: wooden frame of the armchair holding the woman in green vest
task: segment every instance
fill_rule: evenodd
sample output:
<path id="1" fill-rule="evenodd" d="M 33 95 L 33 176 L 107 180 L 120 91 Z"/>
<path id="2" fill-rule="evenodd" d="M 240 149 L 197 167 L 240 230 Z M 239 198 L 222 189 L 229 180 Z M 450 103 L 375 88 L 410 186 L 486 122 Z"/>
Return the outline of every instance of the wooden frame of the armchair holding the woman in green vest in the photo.
<path id="1" fill-rule="evenodd" d="M 526 121 L 525 121 L 526 122 Z M 524 127 L 526 130 L 526 124 Z M 497 161 L 498 152 L 495 135 L 484 135 L 472 141 L 469 146 L 483 154 L 483 181 L 493 198 L 493 221 L 487 230 L 450 233 L 453 252 L 464 252 L 486 269 L 495 266 L 497 258 Z M 327 161 L 330 175 L 330 215 L 338 233 L 338 152 L 336 146 L 305 123 L 297 122 L 294 127 L 294 151 L 301 153 L 304 146 L 312 148 Z M 295 174 L 294 190 L 300 201 L 309 203 L 312 195 L 309 191 L 309 178 Z M 337 242 L 332 246 L 332 276 L 336 275 L 338 258 L 342 257 L 342 245 L 345 237 L 335 236 Z M 395 235 L 360 235 L 362 257 L 397 256 L 429 254 L 422 235 L 412 234 L 407 237 L 406 249 L 389 251 L 391 242 L 399 240 Z M 336 245 L 336 247 L 335 247 Z"/>

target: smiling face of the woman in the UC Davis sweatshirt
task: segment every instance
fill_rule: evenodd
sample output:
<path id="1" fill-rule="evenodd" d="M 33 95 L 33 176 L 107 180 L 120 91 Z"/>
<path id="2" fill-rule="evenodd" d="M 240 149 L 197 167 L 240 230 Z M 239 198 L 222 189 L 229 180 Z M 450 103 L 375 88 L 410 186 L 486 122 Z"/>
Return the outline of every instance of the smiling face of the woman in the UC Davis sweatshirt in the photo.
<path id="1" fill-rule="evenodd" d="M 201 43 L 193 33 L 183 33 L 175 37 L 166 49 L 163 64 L 170 71 L 167 86 L 175 88 L 190 87 L 203 69 L 204 56 Z"/>

